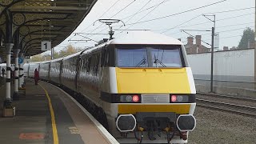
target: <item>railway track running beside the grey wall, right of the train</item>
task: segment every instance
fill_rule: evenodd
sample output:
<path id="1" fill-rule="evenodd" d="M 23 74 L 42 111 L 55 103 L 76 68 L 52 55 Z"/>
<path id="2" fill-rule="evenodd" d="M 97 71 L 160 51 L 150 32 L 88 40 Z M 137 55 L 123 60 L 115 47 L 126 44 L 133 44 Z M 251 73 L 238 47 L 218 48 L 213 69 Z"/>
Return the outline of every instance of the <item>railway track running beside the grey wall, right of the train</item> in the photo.
<path id="1" fill-rule="evenodd" d="M 209 94 L 206 94 L 209 95 Z M 210 94 L 213 95 L 213 94 Z M 252 99 L 252 98 L 238 98 L 238 97 L 234 97 L 234 96 L 229 96 L 229 95 L 221 95 L 221 94 L 214 94 L 214 97 L 218 97 L 218 98 L 228 98 L 228 99 L 232 99 L 234 101 L 234 99 L 238 100 L 237 103 L 239 103 L 239 101 L 246 101 L 246 102 L 251 102 L 254 105 L 253 106 L 242 106 L 240 104 L 234 104 L 234 103 L 230 103 L 230 102 L 218 102 L 218 101 L 213 101 L 213 100 L 209 100 L 206 98 L 196 98 L 197 99 L 197 106 L 202 106 L 202 107 L 206 107 L 209 109 L 214 109 L 214 110 L 221 110 L 221 111 L 227 111 L 233 114 L 241 114 L 241 115 L 246 115 L 246 116 L 250 116 L 250 117 L 256 117 L 256 104 L 254 102 L 256 102 L 256 99 Z"/>

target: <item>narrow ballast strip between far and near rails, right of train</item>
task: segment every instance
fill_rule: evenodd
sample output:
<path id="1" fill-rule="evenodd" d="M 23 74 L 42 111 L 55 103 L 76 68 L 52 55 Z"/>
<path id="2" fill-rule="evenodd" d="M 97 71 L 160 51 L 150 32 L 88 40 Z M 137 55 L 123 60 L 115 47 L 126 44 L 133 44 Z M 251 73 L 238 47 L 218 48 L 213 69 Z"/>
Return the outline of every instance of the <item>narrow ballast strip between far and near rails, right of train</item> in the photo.
<path id="1" fill-rule="evenodd" d="M 204 94 L 197 94 L 196 98 L 200 99 L 207 99 L 210 101 L 216 101 L 216 102 L 226 102 L 226 103 L 231 103 L 231 104 L 236 104 L 236 105 L 242 105 L 242 106 L 252 106 L 256 107 L 255 102 L 250 102 L 250 101 L 244 101 L 244 100 L 238 100 L 234 98 L 220 98 L 217 96 L 213 95 L 204 95 Z"/>

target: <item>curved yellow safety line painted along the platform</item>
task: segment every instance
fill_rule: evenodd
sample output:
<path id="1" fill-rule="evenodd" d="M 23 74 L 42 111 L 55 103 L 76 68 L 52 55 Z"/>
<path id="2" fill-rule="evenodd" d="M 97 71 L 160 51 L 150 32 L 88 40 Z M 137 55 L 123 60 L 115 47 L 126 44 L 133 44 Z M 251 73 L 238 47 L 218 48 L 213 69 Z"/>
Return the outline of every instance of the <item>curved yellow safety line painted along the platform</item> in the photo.
<path id="1" fill-rule="evenodd" d="M 51 104 L 51 100 L 50 100 L 50 96 L 47 92 L 47 90 L 40 84 L 38 84 L 39 86 L 42 87 L 43 90 L 45 90 L 46 92 L 46 97 L 48 99 L 48 103 L 49 103 L 49 108 L 50 108 L 50 117 L 51 117 L 51 126 L 53 128 L 53 134 L 54 134 L 54 144 L 58 144 L 58 130 L 57 130 L 57 126 L 56 126 L 56 122 L 55 122 L 55 114 L 54 114 L 54 109 L 53 106 Z"/>

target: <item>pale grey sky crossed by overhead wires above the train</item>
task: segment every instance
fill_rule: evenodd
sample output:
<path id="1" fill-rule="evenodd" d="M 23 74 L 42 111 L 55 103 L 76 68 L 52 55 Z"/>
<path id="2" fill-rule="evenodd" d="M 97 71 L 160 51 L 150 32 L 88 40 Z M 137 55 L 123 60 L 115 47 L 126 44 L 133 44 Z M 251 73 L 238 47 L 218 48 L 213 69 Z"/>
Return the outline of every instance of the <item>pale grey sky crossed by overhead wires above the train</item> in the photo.
<path id="1" fill-rule="evenodd" d="M 254 0 L 227 0 L 225 2 L 220 2 L 221 0 L 98 0 L 98 2 L 94 5 L 94 8 L 90 11 L 90 14 L 86 16 L 78 29 L 74 32 L 79 33 L 108 33 L 108 27 L 106 25 L 102 25 L 100 22 L 95 22 L 98 18 L 117 18 L 121 19 L 126 23 L 127 26 L 123 26 L 121 29 L 146 29 L 146 30 L 154 30 L 157 33 L 161 33 L 166 29 L 174 28 L 166 31 L 163 34 L 174 38 L 182 38 L 182 42 L 186 44 L 186 37 L 189 35 L 180 32 L 181 29 L 196 29 L 196 30 L 211 30 L 211 27 L 214 26 L 214 22 L 210 22 L 207 18 L 204 18 L 202 14 L 221 12 L 226 10 L 237 10 L 243 8 L 250 8 L 255 6 Z M 116 2 L 116 3 L 115 3 Z M 132 3 L 131 3 L 132 2 Z M 158 7 L 151 8 L 146 10 L 151 6 L 155 6 L 159 3 L 163 2 Z M 213 6 L 207 6 L 199 10 L 193 10 L 184 14 L 177 14 L 174 16 L 170 16 L 167 18 L 161 18 L 151 22 L 143 22 L 154 18 L 164 17 L 170 14 L 176 14 L 179 12 L 183 12 L 186 10 L 191 10 L 200 6 L 206 6 L 214 2 L 220 2 Z M 115 5 L 114 5 L 115 3 Z M 131 4 L 130 4 L 131 3 Z M 127 6 L 129 5 L 130 6 Z M 114 5 L 114 6 L 113 6 Z M 113 6 L 110 9 L 110 6 Z M 127 6 L 127 7 L 126 7 Z M 142 7 L 144 8 L 142 9 Z M 122 10 L 124 7 L 126 9 Z M 110 10 L 108 10 L 110 9 Z M 141 13 L 138 13 L 138 10 L 145 10 Z M 108 11 L 107 11 L 108 10 Z M 120 13 L 118 11 L 122 10 Z M 151 11 L 152 10 L 152 11 Z M 106 12 L 104 14 L 104 12 Z M 151 11 L 150 14 L 148 14 Z M 254 12 L 255 8 L 250 8 L 246 10 L 237 10 L 230 11 L 225 13 L 214 13 L 216 14 L 216 32 L 220 32 L 220 47 L 223 46 L 238 46 L 238 42 L 240 41 L 242 35 L 242 31 L 246 27 L 251 27 L 254 29 Z M 118 14 L 117 14 L 118 13 Z M 102 15 L 103 14 L 103 15 Z M 133 15 L 132 17 L 126 18 L 127 16 Z M 148 14 L 148 15 L 146 15 Z M 142 18 L 146 15 L 145 18 Z M 102 17 L 100 17 L 102 16 Z M 114 17 L 113 17 L 114 16 Z M 197 18 L 195 18 L 198 16 Z M 238 17 L 239 16 L 239 17 Z M 232 18 L 233 17 L 233 18 Z M 236 17 L 236 18 L 234 18 Z M 142 18 L 142 19 L 141 19 Z M 194 18 L 190 22 L 186 22 Z M 210 18 L 210 17 L 209 17 Z M 138 22 L 135 25 L 129 25 L 130 23 Z M 129 21 L 128 21 L 129 20 Z M 93 26 L 92 23 L 95 22 Z M 186 23 L 184 23 L 186 22 Z M 184 23 L 184 24 L 182 24 Z M 203 23 L 200 25 L 196 25 L 199 23 Z M 182 25 L 181 25 L 182 24 Z M 102 25 L 102 26 L 101 26 Z M 114 29 L 118 29 L 122 23 L 114 24 Z M 179 26 L 181 25 L 181 26 Z M 233 25 L 233 26 L 231 26 Z M 98 27 L 99 26 L 99 27 Z M 97 30 L 94 30 L 98 28 Z M 121 31 L 116 30 L 114 37 L 122 35 L 119 34 Z M 190 34 L 202 34 L 202 40 L 210 43 L 210 32 L 199 32 L 199 31 L 188 31 Z M 96 41 L 101 40 L 102 38 L 108 38 L 108 35 L 85 35 L 86 37 L 92 38 Z M 71 34 L 69 38 L 67 38 L 64 42 L 62 42 L 59 47 L 56 47 L 55 50 L 61 50 L 61 46 L 66 46 L 71 44 L 73 46 L 85 47 L 85 46 L 94 46 L 95 42 L 68 42 L 69 39 L 85 39 L 80 36 L 74 36 Z M 207 46 L 207 45 L 206 45 Z M 210 46 L 208 46 L 210 47 Z"/>

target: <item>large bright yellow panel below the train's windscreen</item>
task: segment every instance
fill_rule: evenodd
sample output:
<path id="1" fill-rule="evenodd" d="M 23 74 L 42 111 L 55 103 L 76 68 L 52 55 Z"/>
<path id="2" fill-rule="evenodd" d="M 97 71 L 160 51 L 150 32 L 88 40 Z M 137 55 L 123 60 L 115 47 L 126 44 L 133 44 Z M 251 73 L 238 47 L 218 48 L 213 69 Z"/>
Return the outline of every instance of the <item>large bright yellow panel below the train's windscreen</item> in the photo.
<path id="1" fill-rule="evenodd" d="M 117 68 L 120 94 L 191 94 L 186 68 Z"/>

